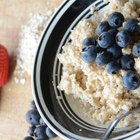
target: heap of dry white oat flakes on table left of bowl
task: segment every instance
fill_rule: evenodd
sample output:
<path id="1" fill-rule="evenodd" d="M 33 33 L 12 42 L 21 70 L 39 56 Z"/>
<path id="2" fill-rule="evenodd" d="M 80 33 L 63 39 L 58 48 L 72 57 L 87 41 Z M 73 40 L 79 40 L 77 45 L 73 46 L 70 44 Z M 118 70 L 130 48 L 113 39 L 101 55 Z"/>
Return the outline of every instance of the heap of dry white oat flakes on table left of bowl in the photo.
<path id="1" fill-rule="evenodd" d="M 52 14 L 53 11 L 48 11 L 47 13 L 33 15 L 28 23 L 21 27 L 19 44 L 15 52 L 15 57 L 17 59 L 14 72 L 16 83 L 24 84 L 26 82 L 25 79 L 22 79 L 24 73 L 28 75 L 32 74 L 34 58 L 38 49 L 40 37 Z"/>

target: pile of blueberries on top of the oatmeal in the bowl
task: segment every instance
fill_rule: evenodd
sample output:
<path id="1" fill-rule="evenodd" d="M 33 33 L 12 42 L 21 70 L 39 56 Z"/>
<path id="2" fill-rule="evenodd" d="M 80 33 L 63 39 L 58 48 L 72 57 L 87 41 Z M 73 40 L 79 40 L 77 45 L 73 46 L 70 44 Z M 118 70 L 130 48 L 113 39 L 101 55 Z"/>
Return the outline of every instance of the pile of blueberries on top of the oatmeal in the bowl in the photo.
<path id="1" fill-rule="evenodd" d="M 123 25 L 123 27 L 122 27 Z M 120 69 L 127 70 L 123 75 L 123 85 L 128 90 L 140 86 L 140 76 L 134 69 L 135 57 L 140 57 L 140 43 L 134 38 L 140 37 L 140 23 L 137 19 L 125 21 L 120 12 L 113 12 L 96 29 L 98 39 L 85 38 L 81 58 L 86 63 L 96 62 L 106 66 L 109 74 L 117 74 Z M 123 55 L 122 48 L 132 46 L 131 55 Z"/>

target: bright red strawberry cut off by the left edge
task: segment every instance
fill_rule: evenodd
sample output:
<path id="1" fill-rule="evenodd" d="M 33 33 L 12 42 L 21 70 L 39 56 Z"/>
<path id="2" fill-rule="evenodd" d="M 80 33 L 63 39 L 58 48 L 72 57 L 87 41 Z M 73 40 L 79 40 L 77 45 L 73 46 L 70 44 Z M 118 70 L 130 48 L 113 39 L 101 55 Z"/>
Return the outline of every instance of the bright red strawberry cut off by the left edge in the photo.
<path id="1" fill-rule="evenodd" d="M 0 87 L 6 84 L 9 74 L 9 56 L 7 49 L 0 44 Z"/>

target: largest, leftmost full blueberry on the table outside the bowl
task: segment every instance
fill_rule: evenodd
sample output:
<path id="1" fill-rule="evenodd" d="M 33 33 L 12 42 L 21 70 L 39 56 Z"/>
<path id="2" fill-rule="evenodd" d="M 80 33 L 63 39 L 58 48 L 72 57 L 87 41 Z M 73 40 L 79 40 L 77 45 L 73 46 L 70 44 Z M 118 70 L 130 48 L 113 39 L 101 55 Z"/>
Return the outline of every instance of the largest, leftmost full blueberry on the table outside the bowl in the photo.
<path id="1" fill-rule="evenodd" d="M 31 125 L 39 125 L 40 115 L 37 110 L 32 109 L 26 113 L 26 120 Z"/>

